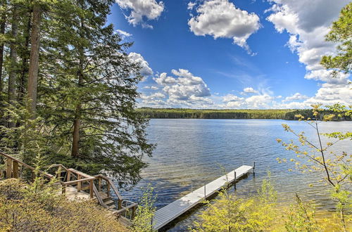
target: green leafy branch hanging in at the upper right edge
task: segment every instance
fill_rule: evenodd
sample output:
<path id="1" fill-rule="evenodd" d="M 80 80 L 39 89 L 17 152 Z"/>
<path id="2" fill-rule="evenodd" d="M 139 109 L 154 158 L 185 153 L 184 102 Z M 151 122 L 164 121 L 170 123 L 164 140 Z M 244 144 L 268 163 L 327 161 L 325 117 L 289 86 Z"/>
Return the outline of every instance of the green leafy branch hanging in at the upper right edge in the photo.
<path id="1" fill-rule="evenodd" d="M 338 71 L 351 72 L 352 67 L 352 3 L 342 8 L 340 17 L 332 23 L 327 41 L 338 44 L 336 56 L 323 56 L 321 64 L 327 69 L 333 69 L 334 75 Z"/>

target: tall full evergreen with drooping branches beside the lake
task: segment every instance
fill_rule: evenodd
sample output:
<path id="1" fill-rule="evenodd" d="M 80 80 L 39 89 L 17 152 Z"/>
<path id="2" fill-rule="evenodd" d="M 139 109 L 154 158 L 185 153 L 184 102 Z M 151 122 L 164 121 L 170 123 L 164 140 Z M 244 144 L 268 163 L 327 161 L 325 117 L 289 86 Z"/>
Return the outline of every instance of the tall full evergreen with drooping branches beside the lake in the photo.
<path id="1" fill-rule="evenodd" d="M 48 56 L 56 62 L 49 70 L 56 82 L 42 79 L 42 91 L 51 93 L 42 98 L 42 111 L 57 134 L 72 133 L 70 162 L 77 168 L 111 171 L 135 182 L 146 166 L 142 156 L 151 155 L 153 146 L 145 138 L 147 121 L 134 111 L 142 77 L 139 65 L 127 57 L 132 44 L 121 44 L 113 25 L 106 25 L 112 3 L 75 1 L 71 8 L 77 14 L 51 22 Z"/>

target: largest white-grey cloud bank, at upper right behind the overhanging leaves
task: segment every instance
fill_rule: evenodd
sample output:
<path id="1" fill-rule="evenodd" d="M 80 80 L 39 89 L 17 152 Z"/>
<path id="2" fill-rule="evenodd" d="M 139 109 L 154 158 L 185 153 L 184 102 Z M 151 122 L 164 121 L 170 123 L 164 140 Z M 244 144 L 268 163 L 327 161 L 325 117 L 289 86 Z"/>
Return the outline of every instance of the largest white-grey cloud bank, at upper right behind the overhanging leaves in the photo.
<path id="1" fill-rule="evenodd" d="M 330 71 L 320 65 L 322 56 L 335 52 L 336 44 L 325 41 L 332 21 L 339 17 L 339 11 L 348 4 L 348 0 L 270 0 L 272 12 L 267 20 L 275 29 L 289 34 L 287 46 L 296 52 L 299 62 L 306 65 L 306 79 L 315 79 L 334 84 L 346 84 L 348 75 L 341 73 L 336 79 L 330 77 Z M 267 12 L 269 12 L 267 11 Z"/>

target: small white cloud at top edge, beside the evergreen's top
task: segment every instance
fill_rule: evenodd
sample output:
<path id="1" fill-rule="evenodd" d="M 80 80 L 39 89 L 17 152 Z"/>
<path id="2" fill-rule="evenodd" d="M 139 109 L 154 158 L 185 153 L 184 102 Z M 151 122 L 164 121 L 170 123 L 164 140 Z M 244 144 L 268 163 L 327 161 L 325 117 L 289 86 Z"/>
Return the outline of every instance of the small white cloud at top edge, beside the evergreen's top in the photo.
<path id="1" fill-rule="evenodd" d="M 130 24 L 136 26 L 142 24 L 142 27 L 153 28 L 153 26 L 144 22 L 147 20 L 156 20 L 164 11 L 163 1 L 156 0 L 115 0 L 122 9 L 129 9 L 130 15 L 126 19 Z"/>

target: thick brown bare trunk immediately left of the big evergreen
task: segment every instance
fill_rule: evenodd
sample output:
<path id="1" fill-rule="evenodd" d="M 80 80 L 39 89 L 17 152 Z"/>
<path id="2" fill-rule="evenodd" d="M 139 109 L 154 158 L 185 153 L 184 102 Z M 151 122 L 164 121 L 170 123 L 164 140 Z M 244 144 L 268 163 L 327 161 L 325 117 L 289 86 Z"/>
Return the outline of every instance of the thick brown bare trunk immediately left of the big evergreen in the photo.
<path id="1" fill-rule="evenodd" d="M 31 49 L 30 49 L 30 67 L 28 71 L 28 110 L 35 117 L 37 110 L 37 85 L 39 72 L 39 44 L 40 44 L 40 22 L 42 20 L 42 7 L 39 4 L 33 6 Z"/>

